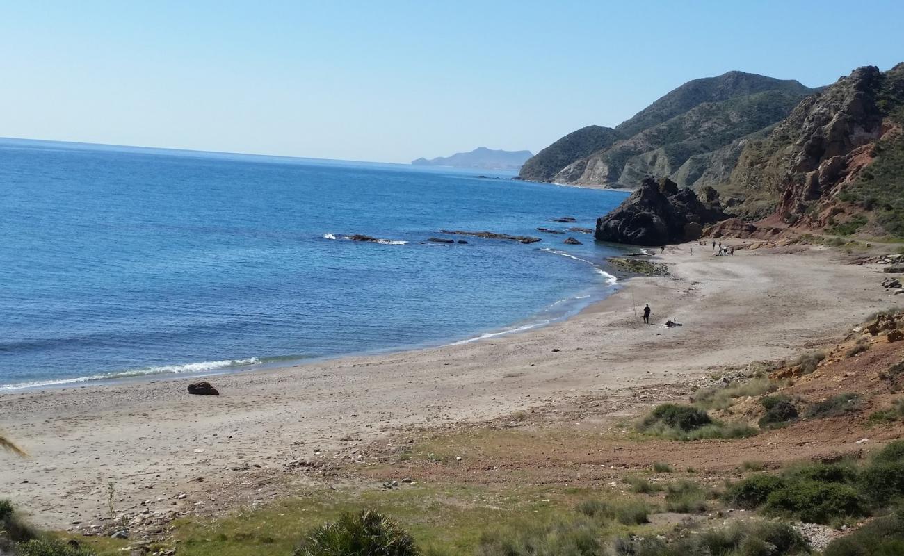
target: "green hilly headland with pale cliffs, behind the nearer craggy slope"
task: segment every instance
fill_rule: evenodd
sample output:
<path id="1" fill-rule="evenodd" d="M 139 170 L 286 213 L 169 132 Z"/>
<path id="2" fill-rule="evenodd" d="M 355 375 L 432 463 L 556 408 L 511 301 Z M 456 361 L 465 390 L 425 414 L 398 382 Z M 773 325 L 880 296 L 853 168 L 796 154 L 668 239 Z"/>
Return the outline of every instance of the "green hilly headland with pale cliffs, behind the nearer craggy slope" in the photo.
<path id="1" fill-rule="evenodd" d="M 615 129 L 584 127 L 562 137 L 525 163 L 520 177 L 634 187 L 654 174 L 682 186 L 719 184 L 749 139 L 813 92 L 794 80 L 741 71 L 692 80 Z"/>

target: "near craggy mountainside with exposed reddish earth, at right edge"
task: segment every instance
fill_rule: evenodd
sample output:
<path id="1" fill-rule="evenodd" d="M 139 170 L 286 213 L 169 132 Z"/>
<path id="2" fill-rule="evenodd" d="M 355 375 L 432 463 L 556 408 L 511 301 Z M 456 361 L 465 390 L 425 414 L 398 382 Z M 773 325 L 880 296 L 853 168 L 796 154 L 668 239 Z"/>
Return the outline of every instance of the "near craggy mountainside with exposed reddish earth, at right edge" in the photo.
<path id="1" fill-rule="evenodd" d="M 750 140 L 723 193 L 746 220 L 904 237 L 904 63 L 868 66 Z"/>

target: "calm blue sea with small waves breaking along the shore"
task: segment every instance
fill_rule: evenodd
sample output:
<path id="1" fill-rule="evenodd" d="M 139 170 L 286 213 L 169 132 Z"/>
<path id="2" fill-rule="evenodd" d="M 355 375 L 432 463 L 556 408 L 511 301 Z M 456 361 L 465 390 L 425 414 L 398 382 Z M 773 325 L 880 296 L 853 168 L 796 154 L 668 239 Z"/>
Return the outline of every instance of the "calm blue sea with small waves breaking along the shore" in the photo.
<path id="1" fill-rule="evenodd" d="M 626 193 L 510 177 L 0 140 L 0 391 L 466 341 L 605 297 L 612 247 L 535 229 Z"/>

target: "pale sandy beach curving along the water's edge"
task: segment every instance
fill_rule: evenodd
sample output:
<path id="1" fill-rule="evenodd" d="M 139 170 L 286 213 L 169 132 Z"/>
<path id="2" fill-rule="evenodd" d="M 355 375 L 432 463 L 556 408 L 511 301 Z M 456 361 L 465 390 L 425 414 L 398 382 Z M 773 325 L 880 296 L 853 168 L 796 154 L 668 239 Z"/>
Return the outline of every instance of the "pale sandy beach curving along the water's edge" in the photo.
<path id="1" fill-rule="evenodd" d="M 168 508 L 193 477 L 205 476 L 204 491 L 215 493 L 240 462 L 278 467 L 348 437 L 366 442 L 412 425 L 489 419 L 794 356 L 893 301 L 876 269 L 826 250 L 782 252 L 712 257 L 695 245 L 691 256 L 687 245 L 673 246 L 656 259 L 680 279 L 632 278 L 568 321 L 471 344 L 217 376 L 220 397 L 190 396 L 184 379 L 3 394 L 0 426 L 33 457 L 0 453 L 0 497 L 54 527 L 106 514 L 109 481 L 118 511 L 158 498 L 165 501 L 152 505 Z M 642 325 L 645 302 L 654 323 L 676 316 L 683 327 Z"/>

